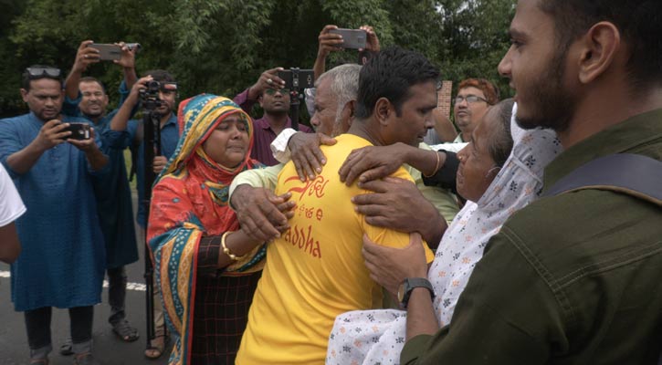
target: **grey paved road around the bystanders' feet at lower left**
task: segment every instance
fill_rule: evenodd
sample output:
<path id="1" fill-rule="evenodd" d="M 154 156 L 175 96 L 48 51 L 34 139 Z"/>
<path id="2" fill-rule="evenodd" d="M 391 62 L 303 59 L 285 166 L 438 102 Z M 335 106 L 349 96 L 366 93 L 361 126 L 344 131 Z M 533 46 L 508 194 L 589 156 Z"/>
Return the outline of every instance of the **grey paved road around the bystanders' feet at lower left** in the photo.
<path id="1" fill-rule="evenodd" d="M 134 196 L 135 198 L 135 196 Z M 144 250 L 139 247 L 140 260 L 131 266 L 127 266 L 127 275 L 130 283 L 138 285 L 131 286 L 127 291 L 127 319 L 134 327 L 139 328 L 141 338 L 134 342 L 124 342 L 112 332 L 108 317 L 110 307 L 108 306 L 108 290 L 103 290 L 103 302 L 94 308 L 94 328 L 92 336 L 94 339 L 93 354 L 102 365 L 163 365 L 167 361 L 169 349 L 159 360 L 149 360 L 143 355 L 145 339 L 145 292 L 142 259 Z M 9 266 L 0 263 L 0 365 L 23 365 L 28 363 L 29 349 L 27 346 L 26 326 L 23 313 L 14 311 L 11 302 Z M 68 336 L 68 311 L 66 309 L 53 310 L 51 322 L 51 334 L 53 340 L 53 352 L 50 355 L 51 365 L 64 365 L 73 362 L 70 356 L 61 356 L 58 353 L 59 345 Z"/>

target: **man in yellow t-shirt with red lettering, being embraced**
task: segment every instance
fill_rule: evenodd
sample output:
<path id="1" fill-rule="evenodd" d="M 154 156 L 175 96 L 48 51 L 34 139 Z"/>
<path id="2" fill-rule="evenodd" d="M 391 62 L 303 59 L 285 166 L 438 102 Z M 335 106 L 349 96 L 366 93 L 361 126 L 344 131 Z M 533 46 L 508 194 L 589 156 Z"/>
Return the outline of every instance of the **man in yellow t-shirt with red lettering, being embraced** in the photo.
<path id="1" fill-rule="evenodd" d="M 409 245 L 409 235 L 366 224 L 351 198 L 368 191 L 347 187 L 337 172 L 353 149 L 422 141 L 433 125 L 436 78 L 422 55 L 384 50 L 361 71 L 352 127 L 322 147 L 323 172 L 307 182 L 292 162 L 280 172 L 276 193 L 292 193 L 297 213 L 289 230 L 268 244 L 237 364 L 321 364 L 337 315 L 382 306 L 381 287 L 363 264 L 363 235 L 398 247 Z M 412 181 L 402 168 L 393 176 Z M 426 255 L 432 261 L 427 248 Z"/>

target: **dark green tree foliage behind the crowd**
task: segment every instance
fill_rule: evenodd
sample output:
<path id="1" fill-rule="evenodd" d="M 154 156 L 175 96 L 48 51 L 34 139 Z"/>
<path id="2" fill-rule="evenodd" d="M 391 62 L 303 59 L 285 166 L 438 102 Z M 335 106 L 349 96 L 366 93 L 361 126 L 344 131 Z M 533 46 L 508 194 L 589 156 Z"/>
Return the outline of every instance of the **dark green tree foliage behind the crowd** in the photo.
<path id="1" fill-rule="evenodd" d="M 509 47 L 515 0 L 0 0 L 0 117 L 26 111 L 20 74 L 32 64 L 68 70 L 79 43 L 139 42 L 139 75 L 164 68 L 180 83 L 180 99 L 199 92 L 233 97 L 276 66 L 312 68 L 326 24 L 375 28 L 382 47 L 422 52 L 444 79 L 489 78 Z M 327 68 L 355 62 L 334 52 Z M 100 63 L 111 101 L 121 69 Z"/>

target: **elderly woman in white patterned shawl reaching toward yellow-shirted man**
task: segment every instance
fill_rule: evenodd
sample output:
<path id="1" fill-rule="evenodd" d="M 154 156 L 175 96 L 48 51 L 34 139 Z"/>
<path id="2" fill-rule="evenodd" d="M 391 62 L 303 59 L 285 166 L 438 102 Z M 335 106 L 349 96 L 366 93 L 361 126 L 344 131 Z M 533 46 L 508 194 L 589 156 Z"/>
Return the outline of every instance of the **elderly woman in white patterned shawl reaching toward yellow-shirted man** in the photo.
<path id="1" fill-rule="evenodd" d="M 499 232 L 510 214 L 538 196 L 543 168 L 561 151 L 551 130 L 520 129 L 511 118 L 515 110 L 511 100 L 491 107 L 474 131 L 473 141 L 457 155 L 457 192 L 468 202 L 448 227 L 427 271 L 436 293 L 433 308 L 440 327 L 450 322 L 457 298 L 482 257 L 489 237 Z M 368 255 L 394 252 L 381 252 L 380 246 L 370 242 L 365 245 L 366 266 L 372 271 L 383 270 L 383 275 L 388 268 L 371 267 Z M 398 258 L 406 265 L 415 265 L 403 256 Z M 419 269 L 425 272 L 426 267 Z M 394 294 L 399 283 L 395 277 L 391 279 L 382 284 Z M 403 310 L 344 313 L 336 318 L 331 330 L 326 362 L 398 364 L 405 346 L 405 330 Z"/>

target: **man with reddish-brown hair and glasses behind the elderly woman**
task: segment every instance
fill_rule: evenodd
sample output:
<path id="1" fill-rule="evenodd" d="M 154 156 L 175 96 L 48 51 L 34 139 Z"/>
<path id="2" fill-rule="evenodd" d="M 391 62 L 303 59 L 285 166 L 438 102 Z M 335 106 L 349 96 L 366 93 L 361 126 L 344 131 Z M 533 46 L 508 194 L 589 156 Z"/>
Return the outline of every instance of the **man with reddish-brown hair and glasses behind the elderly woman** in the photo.
<path id="1" fill-rule="evenodd" d="M 455 123 L 460 132 L 454 143 L 471 141 L 474 131 L 490 105 L 499 102 L 499 90 L 485 78 L 467 78 L 457 86 L 453 99 Z"/>

